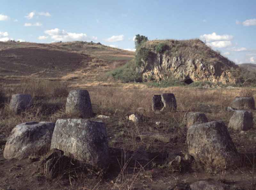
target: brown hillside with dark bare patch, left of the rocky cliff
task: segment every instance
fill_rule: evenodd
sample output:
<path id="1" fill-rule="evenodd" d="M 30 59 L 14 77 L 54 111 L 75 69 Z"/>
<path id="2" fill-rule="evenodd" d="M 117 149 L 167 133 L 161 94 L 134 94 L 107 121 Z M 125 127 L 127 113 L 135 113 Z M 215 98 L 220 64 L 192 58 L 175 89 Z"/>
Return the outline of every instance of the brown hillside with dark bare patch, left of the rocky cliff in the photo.
<path id="1" fill-rule="evenodd" d="M 93 42 L 0 42 L 0 79 L 95 80 L 133 57 L 134 52 Z"/>

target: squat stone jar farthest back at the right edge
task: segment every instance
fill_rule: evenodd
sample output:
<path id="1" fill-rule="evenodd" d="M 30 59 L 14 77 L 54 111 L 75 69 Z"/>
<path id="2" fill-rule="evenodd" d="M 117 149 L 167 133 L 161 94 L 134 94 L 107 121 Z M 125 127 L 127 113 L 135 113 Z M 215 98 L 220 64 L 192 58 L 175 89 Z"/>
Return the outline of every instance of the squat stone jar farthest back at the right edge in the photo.
<path id="1" fill-rule="evenodd" d="M 237 110 L 254 109 L 255 102 L 253 97 L 236 97 L 231 103 L 231 107 Z"/>

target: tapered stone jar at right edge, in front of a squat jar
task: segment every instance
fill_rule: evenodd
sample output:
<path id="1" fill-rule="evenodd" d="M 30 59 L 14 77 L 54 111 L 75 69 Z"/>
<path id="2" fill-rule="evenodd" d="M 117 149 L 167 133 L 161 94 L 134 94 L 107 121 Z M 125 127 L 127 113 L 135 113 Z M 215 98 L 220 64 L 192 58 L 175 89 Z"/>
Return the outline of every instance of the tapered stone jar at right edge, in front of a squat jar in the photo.
<path id="1" fill-rule="evenodd" d="M 253 128 L 252 112 L 237 110 L 229 120 L 228 128 L 247 131 Z"/>

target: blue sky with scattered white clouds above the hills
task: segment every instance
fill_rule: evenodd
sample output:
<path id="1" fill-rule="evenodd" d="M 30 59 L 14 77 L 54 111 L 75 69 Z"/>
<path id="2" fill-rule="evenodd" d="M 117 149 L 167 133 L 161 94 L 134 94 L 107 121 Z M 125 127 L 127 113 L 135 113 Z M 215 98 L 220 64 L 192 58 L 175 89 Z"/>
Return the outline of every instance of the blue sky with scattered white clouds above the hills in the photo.
<path id="1" fill-rule="evenodd" d="M 133 37 L 200 38 L 237 64 L 256 63 L 256 2 L 1 0 L 0 41 L 94 41 L 134 50 Z"/>

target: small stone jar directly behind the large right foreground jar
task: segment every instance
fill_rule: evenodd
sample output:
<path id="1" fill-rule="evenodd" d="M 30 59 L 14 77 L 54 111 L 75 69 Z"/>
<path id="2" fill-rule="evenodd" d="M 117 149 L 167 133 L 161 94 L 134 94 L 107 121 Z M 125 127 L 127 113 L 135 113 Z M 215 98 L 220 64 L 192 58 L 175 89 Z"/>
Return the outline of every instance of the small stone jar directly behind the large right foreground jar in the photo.
<path id="1" fill-rule="evenodd" d="M 199 112 L 188 112 L 185 113 L 183 118 L 183 124 L 187 127 L 190 127 L 192 125 L 197 125 L 200 123 L 207 123 L 208 119 L 204 113 Z"/>

